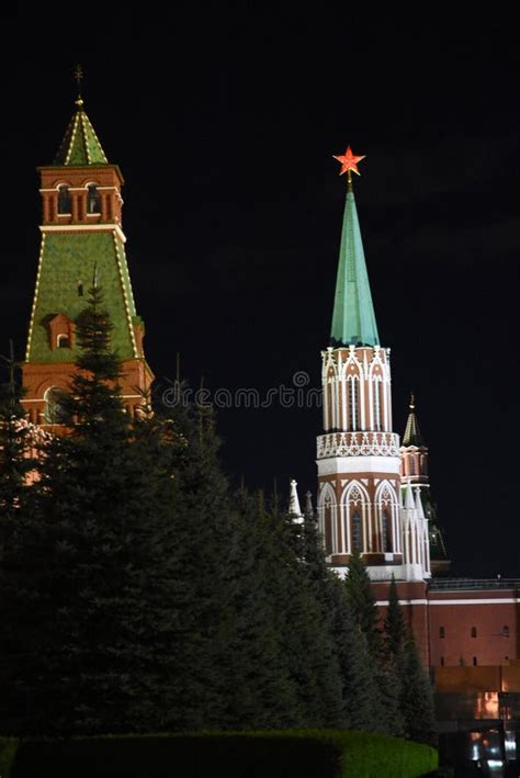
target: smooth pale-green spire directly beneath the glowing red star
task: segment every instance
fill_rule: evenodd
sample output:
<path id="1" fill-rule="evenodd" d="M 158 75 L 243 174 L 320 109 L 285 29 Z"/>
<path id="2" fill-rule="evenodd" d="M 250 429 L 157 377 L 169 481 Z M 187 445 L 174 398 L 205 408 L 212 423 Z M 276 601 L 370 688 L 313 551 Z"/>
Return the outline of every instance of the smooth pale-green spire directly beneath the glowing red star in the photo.
<path id="1" fill-rule="evenodd" d="M 376 346 L 380 342 L 358 211 L 350 185 L 344 206 L 330 340 L 334 346 Z"/>

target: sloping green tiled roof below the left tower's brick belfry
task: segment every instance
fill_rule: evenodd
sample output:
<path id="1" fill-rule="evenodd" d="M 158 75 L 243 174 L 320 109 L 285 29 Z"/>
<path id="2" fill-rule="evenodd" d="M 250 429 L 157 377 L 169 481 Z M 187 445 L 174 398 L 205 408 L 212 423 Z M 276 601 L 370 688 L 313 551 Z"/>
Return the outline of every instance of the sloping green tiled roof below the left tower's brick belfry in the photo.
<path id="1" fill-rule="evenodd" d="M 84 308 L 94 264 L 112 324 L 112 348 L 121 359 L 136 357 L 133 323 L 137 320 L 125 250 L 112 230 L 47 233 L 43 236 L 38 280 L 27 343 L 29 362 L 72 362 L 78 350 L 50 348 L 48 322 L 58 314 L 75 322 Z M 84 294 L 78 293 L 83 284 Z"/>

